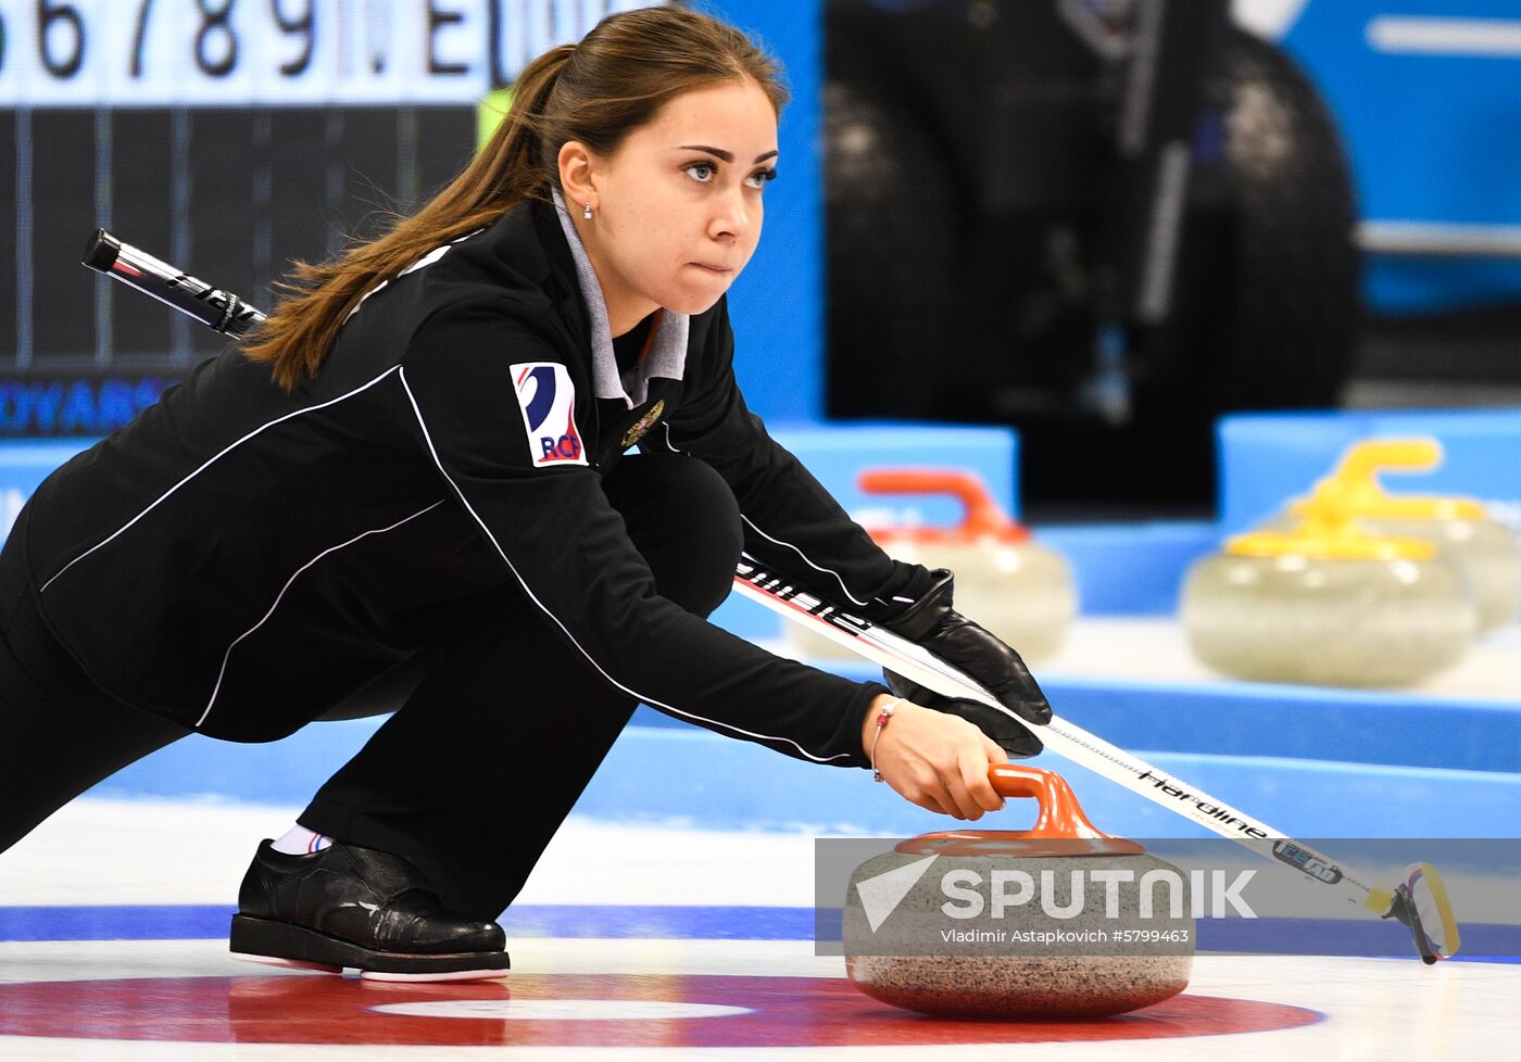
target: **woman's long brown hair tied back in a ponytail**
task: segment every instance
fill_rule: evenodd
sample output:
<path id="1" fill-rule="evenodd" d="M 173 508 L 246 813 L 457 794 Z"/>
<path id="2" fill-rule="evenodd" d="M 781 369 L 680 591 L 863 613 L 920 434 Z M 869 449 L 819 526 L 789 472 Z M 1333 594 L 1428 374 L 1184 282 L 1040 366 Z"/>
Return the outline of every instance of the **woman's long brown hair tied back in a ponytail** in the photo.
<path id="1" fill-rule="evenodd" d="M 490 225 L 525 199 L 558 185 L 561 144 L 578 140 L 611 155 L 639 126 L 683 93 L 751 81 L 780 112 L 780 65 L 748 36 L 686 8 L 608 15 L 580 44 L 534 59 L 513 85 L 513 105 L 475 161 L 415 214 L 339 257 L 298 261 L 286 295 L 243 346 L 292 389 L 318 371 L 348 313 L 380 281 L 429 251 Z"/>

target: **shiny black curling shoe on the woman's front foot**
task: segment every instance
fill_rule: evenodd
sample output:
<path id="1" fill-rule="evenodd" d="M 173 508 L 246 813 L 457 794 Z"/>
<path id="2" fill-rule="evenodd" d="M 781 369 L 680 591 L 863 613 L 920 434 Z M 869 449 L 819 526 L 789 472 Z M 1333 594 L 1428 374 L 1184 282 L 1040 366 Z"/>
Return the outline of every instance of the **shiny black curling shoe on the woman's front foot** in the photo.
<path id="1" fill-rule="evenodd" d="M 333 845 L 310 855 L 265 840 L 243 875 L 233 954 L 392 981 L 502 977 L 506 934 L 496 922 L 453 918 L 400 855 Z"/>

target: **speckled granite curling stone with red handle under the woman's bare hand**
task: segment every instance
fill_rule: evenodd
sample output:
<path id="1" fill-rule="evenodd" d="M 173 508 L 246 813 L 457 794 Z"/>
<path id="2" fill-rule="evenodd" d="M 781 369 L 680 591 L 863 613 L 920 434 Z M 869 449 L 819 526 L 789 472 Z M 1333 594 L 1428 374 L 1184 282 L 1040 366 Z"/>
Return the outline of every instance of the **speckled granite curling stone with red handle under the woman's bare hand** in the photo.
<path id="1" fill-rule="evenodd" d="M 926 834 L 856 868 L 843 931 L 855 986 L 937 1018 L 1004 1021 L 1104 1018 L 1182 992 L 1186 875 L 1094 828 L 1059 775 L 1005 764 L 990 776 L 1004 796 L 1040 801 L 1036 827 Z M 882 890 L 916 874 L 884 916 Z M 984 902 L 967 916 L 972 896 Z"/>

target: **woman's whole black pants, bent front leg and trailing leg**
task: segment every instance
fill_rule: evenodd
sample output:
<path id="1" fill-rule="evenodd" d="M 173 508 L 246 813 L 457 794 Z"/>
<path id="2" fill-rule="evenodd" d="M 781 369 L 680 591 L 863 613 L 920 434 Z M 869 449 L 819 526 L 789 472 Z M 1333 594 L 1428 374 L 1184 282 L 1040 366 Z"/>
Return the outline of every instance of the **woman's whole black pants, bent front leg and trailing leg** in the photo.
<path id="1" fill-rule="evenodd" d="M 662 596 L 700 615 L 724 600 L 742 532 L 713 469 L 677 454 L 625 457 L 604 491 Z M 0 851 L 189 732 L 90 684 L 43 629 L 9 559 L 0 561 Z M 406 857 L 452 912 L 472 918 L 496 918 L 513 901 L 634 710 L 516 586 L 459 602 L 429 646 L 325 717 L 397 705 L 301 825 Z"/>

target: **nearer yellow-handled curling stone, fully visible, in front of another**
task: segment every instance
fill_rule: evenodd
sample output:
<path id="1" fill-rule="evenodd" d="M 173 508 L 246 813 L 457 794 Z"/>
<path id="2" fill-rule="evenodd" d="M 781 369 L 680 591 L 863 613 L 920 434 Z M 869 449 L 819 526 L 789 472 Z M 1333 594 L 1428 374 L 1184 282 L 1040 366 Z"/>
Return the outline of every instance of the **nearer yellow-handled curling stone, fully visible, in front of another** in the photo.
<path id="1" fill-rule="evenodd" d="M 1463 574 L 1430 542 L 1367 533 L 1317 495 L 1293 530 L 1253 532 L 1185 577 L 1188 644 L 1238 679 L 1398 687 L 1457 664 L 1477 629 Z"/>

